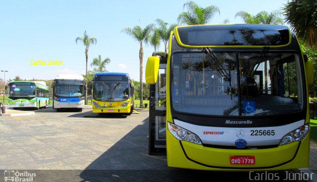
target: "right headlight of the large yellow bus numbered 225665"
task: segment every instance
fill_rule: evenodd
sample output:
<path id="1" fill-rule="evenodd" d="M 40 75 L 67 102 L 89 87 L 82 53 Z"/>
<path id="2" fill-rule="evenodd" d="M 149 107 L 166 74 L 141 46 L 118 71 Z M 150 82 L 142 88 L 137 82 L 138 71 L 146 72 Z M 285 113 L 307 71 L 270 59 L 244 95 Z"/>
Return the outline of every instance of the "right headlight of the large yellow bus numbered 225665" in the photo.
<path id="1" fill-rule="evenodd" d="M 309 124 L 306 124 L 304 126 L 301 126 L 300 128 L 297 128 L 296 130 L 293 130 L 289 132 L 287 135 L 285 135 L 279 144 L 280 146 L 289 144 L 295 141 L 301 141 L 303 140 L 309 131 Z"/>

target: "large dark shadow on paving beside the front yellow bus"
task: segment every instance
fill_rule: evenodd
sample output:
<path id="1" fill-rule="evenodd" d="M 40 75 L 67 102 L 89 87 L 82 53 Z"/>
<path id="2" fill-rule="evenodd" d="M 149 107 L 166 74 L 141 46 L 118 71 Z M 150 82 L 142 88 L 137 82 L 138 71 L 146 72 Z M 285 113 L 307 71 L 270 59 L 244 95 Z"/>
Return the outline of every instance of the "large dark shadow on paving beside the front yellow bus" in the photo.
<path id="1" fill-rule="evenodd" d="M 148 118 L 87 166 L 81 182 L 245 182 L 257 175 L 169 168 L 166 156 L 148 155 L 147 136 Z M 274 173 L 284 181 L 285 171 Z"/>

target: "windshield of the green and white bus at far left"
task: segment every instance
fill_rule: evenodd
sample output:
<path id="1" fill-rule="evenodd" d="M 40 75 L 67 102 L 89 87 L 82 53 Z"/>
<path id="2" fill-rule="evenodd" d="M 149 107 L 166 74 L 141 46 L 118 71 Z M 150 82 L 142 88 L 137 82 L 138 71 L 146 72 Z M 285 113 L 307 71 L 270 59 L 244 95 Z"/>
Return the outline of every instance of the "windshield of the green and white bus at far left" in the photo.
<path id="1" fill-rule="evenodd" d="M 36 85 L 32 82 L 14 82 L 9 84 L 9 97 L 35 97 Z"/>

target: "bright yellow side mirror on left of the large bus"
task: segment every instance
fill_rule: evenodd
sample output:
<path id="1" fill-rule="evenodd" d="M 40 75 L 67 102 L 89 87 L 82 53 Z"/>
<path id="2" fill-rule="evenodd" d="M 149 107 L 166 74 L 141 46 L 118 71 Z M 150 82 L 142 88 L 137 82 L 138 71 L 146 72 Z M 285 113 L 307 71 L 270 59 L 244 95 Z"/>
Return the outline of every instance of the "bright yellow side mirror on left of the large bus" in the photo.
<path id="1" fill-rule="evenodd" d="M 159 75 L 159 57 L 151 56 L 148 58 L 145 69 L 145 81 L 148 84 L 155 84 Z"/>

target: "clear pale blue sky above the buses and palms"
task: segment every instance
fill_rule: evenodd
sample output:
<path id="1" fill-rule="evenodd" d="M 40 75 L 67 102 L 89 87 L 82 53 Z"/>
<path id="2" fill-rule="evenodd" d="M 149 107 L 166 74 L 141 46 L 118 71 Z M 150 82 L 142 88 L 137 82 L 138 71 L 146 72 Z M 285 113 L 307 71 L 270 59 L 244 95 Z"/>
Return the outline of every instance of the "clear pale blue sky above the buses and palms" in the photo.
<path id="1" fill-rule="evenodd" d="M 57 74 L 86 71 L 85 47 L 75 38 L 84 32 L 97 38 L 89 48 L 90 63 L 98 55 L 110 58 L 109 72 L 125 72 L 139 80 L 139 43 L 122 32 L 136 25 L 146 27 L 160 18 L 173 24 L 185 11 L 187 0 L 8 0 L 0 2 L 1 58 L 0 70 L 5 79 L 19 75 L 22 79 L 54 79 Z M 202 7 L 216 5 L 210 23 L 243 23 L 235 18 L 238 11 L 256 15 L 260 11 L 281 9 L 287 0 L 194 0 Z M 164 51 L 163 43 L 159 46 Z M 144 47 L 144 69 L 154 48 Z M 59 66 L 31 65 L 31 60 L 63 61 Z M 32 62 L 33 63 L 33 62 Z M 145 71 L 144 71 L 145 73 Z M 0 78 L 3 79 L 3 72 Z"/>

